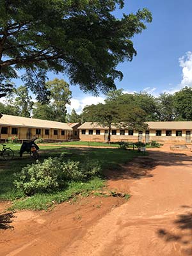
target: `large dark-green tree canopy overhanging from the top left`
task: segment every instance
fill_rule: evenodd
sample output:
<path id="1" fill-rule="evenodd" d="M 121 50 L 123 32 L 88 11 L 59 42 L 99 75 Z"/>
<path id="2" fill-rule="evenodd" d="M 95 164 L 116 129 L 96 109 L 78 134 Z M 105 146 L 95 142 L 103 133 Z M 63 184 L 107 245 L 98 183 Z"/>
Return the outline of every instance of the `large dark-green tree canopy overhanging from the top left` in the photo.
<path id="1" fill-rule="evenodd" d="M 118 7 L 124 0 L 1 0 L 0 97 L 20 69 L 38 100 L 47 95 L 47 71 L 67 74 L 85 92 L 115 88 L 118 63 L 136 56 L 132 37 L 152 21 L 145 8 L 116 19 Z"/>

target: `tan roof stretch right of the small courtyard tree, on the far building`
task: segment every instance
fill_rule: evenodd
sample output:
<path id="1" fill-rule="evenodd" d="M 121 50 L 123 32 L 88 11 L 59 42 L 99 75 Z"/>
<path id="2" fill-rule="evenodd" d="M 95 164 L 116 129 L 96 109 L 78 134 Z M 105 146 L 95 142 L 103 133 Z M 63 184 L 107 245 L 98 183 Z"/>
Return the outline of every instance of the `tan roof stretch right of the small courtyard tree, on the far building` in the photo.
<path id="1" fill-rule="evenodd" d="M 147 122 L 150 129 L 192 130 L 191 121 Z"/>

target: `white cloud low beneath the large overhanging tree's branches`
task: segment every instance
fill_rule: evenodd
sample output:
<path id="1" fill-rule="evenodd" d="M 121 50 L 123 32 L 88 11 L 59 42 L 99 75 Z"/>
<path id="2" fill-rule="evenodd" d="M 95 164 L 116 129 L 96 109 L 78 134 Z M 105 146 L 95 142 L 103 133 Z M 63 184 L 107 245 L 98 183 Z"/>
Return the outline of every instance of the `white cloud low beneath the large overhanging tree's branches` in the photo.
<path id="1" fill-rule="evenodd" d="M 74 108 L 77 114 L 80 114 L 83 108 L 87 105 L 97 104 L 97 103 L 104 103 L 104 97 L 84 97 L 83 99 L 71 99 L 70 105 L 67 104 L 67 112 L 70 113 Z"/>

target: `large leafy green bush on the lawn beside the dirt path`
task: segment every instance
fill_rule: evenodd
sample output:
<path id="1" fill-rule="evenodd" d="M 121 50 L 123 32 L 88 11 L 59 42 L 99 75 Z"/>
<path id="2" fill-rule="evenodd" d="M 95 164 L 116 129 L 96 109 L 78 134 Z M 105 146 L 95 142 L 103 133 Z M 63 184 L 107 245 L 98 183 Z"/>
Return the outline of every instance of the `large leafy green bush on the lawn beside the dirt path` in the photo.
<path id="1" fill-rule="evenodd" d="M 65 188 L 67 182 L 86 180 L 100 173 L 97 161 L 87 160 L 83 164 L 78 161 L 65 161 L 63 156 L 49 157 L 42 163 L 28 164 L 20 173 L 15 174 L 13 184 L 26 195 L 51 192 Z"/>

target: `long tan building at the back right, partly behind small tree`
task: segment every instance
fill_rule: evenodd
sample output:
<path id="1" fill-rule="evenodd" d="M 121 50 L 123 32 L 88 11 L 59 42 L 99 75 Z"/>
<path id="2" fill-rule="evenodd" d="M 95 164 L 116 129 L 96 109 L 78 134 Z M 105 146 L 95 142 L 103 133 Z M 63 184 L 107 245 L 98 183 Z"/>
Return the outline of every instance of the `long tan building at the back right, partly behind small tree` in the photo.
<path id="1" fill-rule="evenodd" d="M 126 128 L 111 127 L 111 141 L 155 140 L 160 143 L 191 143 L 192 122 L 147 122 L 146 131 L 133 131 Z M 85 122 L 79 129 L 81 141 L 107 141 L 108 127 L 92 122 Z"/>

